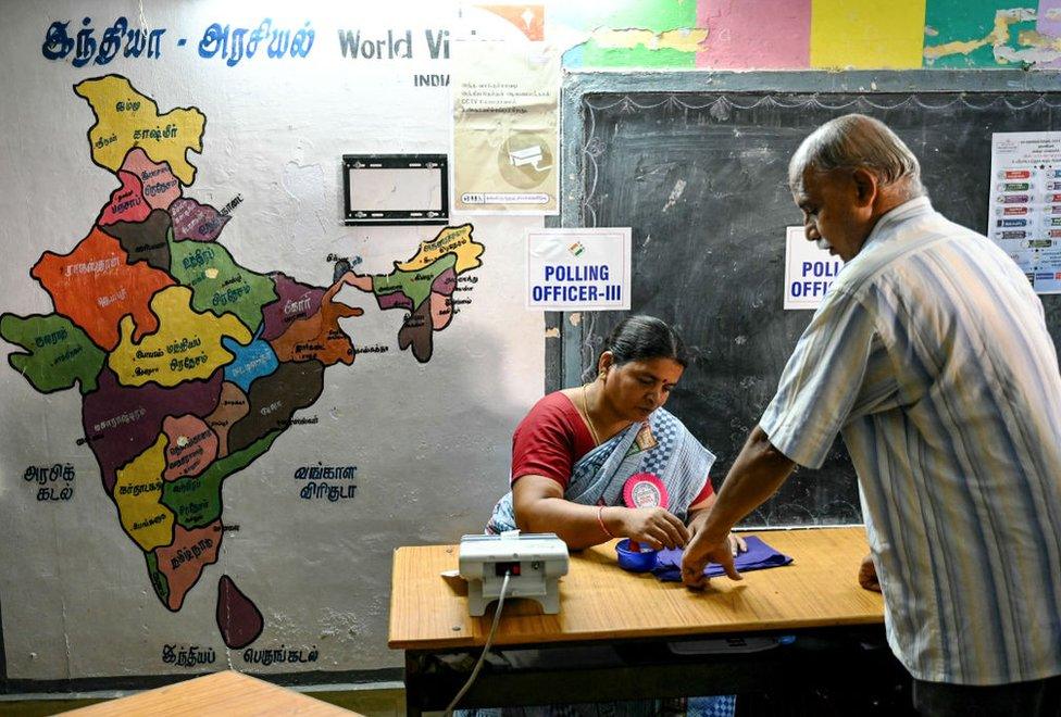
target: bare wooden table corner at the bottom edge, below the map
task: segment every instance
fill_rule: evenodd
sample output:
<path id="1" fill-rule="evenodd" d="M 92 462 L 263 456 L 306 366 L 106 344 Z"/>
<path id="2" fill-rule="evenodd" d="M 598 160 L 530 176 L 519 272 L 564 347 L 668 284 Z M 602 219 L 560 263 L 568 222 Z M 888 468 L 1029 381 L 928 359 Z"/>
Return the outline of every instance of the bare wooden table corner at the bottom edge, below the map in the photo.
<path id="1" fill-rule="evenodd" d="M 225 671 L 198 677 L 121 700 L 101 702 L 65 713 L 101 715 L 307 715 L 335 717 L 357 713 L 285 690 L 239 672 Z"/>

